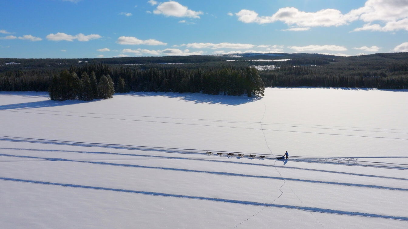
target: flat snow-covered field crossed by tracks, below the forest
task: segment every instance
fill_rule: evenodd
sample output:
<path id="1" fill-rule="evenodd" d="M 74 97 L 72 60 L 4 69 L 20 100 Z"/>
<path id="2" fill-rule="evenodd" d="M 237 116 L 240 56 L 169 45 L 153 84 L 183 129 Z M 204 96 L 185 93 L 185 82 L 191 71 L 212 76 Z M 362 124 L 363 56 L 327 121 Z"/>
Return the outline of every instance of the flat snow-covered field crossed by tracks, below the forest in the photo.
<path id="1" fill-rule="evenodd" d="M 408 228 L 407 104 L 407 90 L 0 92 L 0 228 Z"/>

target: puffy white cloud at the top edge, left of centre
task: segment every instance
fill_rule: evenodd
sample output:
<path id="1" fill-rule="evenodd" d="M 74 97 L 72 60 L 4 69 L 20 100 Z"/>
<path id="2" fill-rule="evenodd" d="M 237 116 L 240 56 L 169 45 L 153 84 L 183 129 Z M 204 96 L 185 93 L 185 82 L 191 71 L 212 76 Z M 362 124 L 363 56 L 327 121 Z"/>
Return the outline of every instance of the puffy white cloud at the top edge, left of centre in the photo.
<path id="1" fill-rule="evenodd" d="M 188 9 L 188 7 L 174 1 L 160 3 L 153 13 L 177 18 L 200 18 L 199 15 L 203 14 L 202 11 L 193 11 Z"/>

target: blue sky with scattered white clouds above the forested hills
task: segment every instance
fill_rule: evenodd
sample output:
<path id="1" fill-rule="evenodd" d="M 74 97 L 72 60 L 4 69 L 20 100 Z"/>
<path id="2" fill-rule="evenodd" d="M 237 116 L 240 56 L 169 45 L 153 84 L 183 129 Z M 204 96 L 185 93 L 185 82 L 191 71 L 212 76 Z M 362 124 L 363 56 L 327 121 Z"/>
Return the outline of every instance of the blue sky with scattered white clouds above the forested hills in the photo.
<path id="1" fill-rule="evenodd" d="M 0 57 L 408 51 L 408 0 L 13 0 Z"/>

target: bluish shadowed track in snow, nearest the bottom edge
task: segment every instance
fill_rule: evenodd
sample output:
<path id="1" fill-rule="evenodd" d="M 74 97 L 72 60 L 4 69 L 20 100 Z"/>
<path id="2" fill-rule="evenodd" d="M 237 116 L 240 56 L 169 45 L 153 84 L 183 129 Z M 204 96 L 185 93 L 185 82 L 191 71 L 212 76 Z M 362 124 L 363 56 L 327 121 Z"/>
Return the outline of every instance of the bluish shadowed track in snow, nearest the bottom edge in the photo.
<path id="1" fill-rule="evenodd" d="M 187 199 L 195 199 L 195 200 L 210 200 L 210 201 L 216 201 L 216 202 L 236 203 L 236 204 L 243 204 L 243 205 L 279 207 L 279 208 L 286 208 L 286 209 L 297 209 L 297 210 L 302 210 L 302 211 L 313 211 L 313 212 L 321 212 L 321 213 L 336 214 L 336 215 L 363 216 L 363 217 L 408 221 L 408 217 L 404 217 L 404 216 L 386 216 L 386 215 L 370 214 L 370 213 L 355 212 L 355 211 L 341 211 L 341 210 L 335 210 L 335 209 L 324 209 L 324 208 L 318 208 L 318 207 L 278 205 L 278 204 L 259 203 L 259 202 L 244 201 L 244 200 L 230 200 L 230 199 L 211 198 L 211 197 L 204 197 L 204 196 L 187 196 L 187 195 L 179 195 L 179 194 L 168 194 L 168 193 L 162 193 L 162 192 L 146 192 L 146 191 L 137 191 L 137 190 L 129 190 L 129 189 L 115 189 L 115 188 L 86 186 L 86 185 L 62 184 L 62 183 L 55 183 L 55 182 L 33 181 L 33 180 L 24 180 L 24 179 L 16 179 L 16 178 L 8 178 L 8 177 L 0 177 L 0 180 L 34 183 L 34 184 L 41 184 L 41 185 L 57 185 L 57 186 L 62 186 L 62 187 L 97 189 L 97 190 L 106 190 L 106 191 L 114 191 L 114 192 L 137 193 L 137 194 L 145 194 L 145 195 L 150 195 L 150 196 L 165 196 L 165 197 L 187 198 Z"/>

